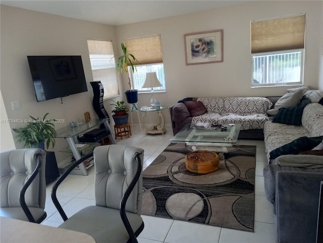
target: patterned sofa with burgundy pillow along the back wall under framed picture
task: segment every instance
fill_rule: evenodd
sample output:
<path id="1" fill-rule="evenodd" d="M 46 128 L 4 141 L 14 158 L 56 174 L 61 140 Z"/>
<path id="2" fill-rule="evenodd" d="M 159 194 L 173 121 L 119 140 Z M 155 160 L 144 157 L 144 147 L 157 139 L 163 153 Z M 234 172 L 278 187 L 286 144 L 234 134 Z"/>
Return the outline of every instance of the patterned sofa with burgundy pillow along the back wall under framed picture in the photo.
<path id="1" fill-rule="evenodd" d="M 174 135 L 185 124 L 241 124 L 241 130 L 261 130 L 273 103 L 264 97 L 206 97 L 179 102 L 170 107 Z"/>

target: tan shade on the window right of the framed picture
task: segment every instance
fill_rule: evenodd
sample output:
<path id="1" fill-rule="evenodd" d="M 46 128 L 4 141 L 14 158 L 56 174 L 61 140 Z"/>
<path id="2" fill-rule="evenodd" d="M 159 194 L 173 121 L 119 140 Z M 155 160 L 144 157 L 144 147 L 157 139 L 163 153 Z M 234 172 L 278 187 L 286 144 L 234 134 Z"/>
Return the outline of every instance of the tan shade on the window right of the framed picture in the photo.
<path id="1" fill-rule="evenodd" d="M 251 22 L 251 53 L 304 48 L 305 15 Z"/>

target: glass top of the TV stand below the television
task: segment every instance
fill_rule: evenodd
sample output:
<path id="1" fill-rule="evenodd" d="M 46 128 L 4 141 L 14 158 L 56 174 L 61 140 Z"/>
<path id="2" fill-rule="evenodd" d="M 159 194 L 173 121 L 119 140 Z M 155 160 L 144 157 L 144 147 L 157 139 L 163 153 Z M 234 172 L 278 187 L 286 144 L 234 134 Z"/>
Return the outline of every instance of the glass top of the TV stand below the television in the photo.
<path id="1" fill-rule="evenodd" d="M 97 125 L 100 125 L 104 123 L 105 121 L 108 121 L 108 118 L 104 119 L 91 119 L 87 123 L 83 122 L 82 124 L 76 124 L 76 127 L 71 128 L 70 126 L 66 126 L 64 128 L 58 129 L 56 138 L 71 138 L 73 136 L 76 136 L 80 133 L 85 132 L 88 129 L 91 129 Z"/>

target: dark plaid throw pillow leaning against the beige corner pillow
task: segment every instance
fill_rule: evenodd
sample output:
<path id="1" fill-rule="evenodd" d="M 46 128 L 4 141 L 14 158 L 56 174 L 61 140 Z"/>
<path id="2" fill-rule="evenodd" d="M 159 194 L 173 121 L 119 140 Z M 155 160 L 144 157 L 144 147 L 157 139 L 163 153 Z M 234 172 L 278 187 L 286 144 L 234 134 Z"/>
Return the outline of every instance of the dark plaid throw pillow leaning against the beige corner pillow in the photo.
<path id="1" fill-rule="evenodd" d="M 302 125 L 303 109 L 309 103 L 310 101 L 308 99 L 302 99 L 301 103 L 295 107 L 280 108 L 273 119 L 273 123 L 295 126 Z"/>

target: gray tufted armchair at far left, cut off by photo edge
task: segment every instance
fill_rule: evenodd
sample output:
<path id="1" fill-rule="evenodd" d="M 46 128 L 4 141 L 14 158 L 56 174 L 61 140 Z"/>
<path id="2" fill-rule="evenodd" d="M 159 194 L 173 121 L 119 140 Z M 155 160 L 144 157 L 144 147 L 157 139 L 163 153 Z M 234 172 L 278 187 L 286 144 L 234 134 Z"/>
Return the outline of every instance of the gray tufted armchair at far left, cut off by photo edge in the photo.
<path id="1" fill-rule="evenodd" d="M 45 160 L 42 149 L 1 152 L 1 216 L 34 223 L 46 218 Z"/>

